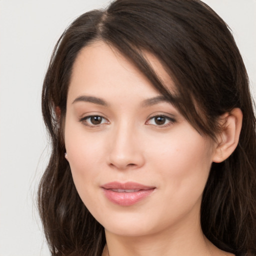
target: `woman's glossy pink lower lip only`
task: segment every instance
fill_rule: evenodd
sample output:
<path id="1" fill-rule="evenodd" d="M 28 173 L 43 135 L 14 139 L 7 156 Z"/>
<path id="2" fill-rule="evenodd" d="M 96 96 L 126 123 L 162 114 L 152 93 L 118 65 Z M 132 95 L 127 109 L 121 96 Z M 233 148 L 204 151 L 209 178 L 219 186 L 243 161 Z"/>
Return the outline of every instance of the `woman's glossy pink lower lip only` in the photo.
<path id="1" fill-rule="evenodd" d="M 150 195 L 153 190 L 154 188 L 141 189 L 136 192 L 115 192 L 110 189 L 103 188 L 104 194 L 109 201 L 122 206 L 129 206 L 137 203 Z"/>

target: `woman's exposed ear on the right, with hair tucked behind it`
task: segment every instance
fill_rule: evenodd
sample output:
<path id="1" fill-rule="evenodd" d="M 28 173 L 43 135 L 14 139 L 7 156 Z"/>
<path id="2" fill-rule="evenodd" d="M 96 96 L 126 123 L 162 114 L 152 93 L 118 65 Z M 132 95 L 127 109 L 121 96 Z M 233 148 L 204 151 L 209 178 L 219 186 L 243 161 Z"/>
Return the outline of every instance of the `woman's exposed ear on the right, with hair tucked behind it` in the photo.
<path id="1" fill-rule="evenodd" d="M 217 145 L 213 154 L 213 162 L 224 161 L 236 148 L 242 126 L 242 111 L 233 108 L 229 113 L 220 116 L 221 131 L 217 135 Z"/>

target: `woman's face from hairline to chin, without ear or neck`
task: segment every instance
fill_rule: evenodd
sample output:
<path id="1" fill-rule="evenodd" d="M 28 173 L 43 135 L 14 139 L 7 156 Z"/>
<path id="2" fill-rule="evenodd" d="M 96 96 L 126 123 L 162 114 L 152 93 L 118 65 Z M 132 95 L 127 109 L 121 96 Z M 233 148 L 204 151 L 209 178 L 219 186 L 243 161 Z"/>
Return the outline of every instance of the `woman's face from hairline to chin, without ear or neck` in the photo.
<path id="1" fill-rule="evenodd" d="M 171 91 L 161 64 L 146 56 Z M 64 137 L 76 189 L 109 232 L 198 225 L 214 143 L 103 42 L 84 47 L 74 62 Z"/>

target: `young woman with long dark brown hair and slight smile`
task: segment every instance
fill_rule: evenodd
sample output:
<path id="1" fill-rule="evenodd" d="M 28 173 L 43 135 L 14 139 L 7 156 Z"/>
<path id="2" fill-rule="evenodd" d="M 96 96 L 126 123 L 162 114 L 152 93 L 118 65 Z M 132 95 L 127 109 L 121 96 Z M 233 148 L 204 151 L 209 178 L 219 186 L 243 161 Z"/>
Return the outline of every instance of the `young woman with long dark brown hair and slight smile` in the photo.
<path id="1" fill-rule="evenodd" d="M 224 21 L 116 0 L 56 44 L 38 205 L 52 255 L 254 255 L 255 117 Z"/>

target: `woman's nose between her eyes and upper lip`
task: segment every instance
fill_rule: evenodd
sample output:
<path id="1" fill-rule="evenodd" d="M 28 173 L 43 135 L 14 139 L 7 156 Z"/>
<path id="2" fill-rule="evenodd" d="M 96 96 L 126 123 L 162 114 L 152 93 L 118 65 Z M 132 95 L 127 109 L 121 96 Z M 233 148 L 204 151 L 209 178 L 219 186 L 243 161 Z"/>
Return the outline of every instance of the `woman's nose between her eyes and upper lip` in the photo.
<path id="1" fill-rule="evenodd" d="M 109 137 L 108 164 L 119 170 L 136 169 L 145 162 L 139 132 L 124 122 L 112 130 Z"/>

